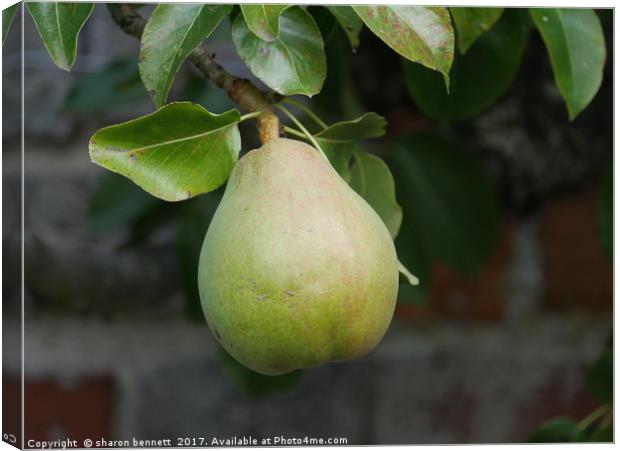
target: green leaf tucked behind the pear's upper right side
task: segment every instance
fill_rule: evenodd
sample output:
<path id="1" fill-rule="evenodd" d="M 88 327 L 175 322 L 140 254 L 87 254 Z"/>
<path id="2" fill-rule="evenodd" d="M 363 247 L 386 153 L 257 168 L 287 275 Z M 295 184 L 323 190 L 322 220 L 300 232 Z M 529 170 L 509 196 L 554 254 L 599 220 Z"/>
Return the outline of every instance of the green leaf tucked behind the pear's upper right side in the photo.
<path id="1" fill-rule="evenodd" d="M 385 162 L 368 152 L 353 152 L 351 188 L 362 196 L 381 217 L 392 238 L 398 235 L 403 212 L 396 202 L 394 179 Z"/>

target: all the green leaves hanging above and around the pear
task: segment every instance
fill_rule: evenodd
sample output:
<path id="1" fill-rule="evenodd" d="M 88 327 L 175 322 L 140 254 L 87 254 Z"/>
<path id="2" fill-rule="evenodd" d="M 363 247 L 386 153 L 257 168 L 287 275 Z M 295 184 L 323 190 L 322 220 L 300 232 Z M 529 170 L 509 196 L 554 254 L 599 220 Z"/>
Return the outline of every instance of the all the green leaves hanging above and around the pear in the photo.
<path id="1" fill-rule="evenodd" d="M 93 3 L 26 3 L 60 68 L 73 67 L 79 32 L 93 8 Z M 3 11 L 3 42 L 17 11 L 18 5 Z M 423 297 L 435 259 L 463 275 L 475 274 L 493 250 L 498 208 L 492 183 L 467 149 L 446 137 L 418 133 L 390 144 L 384 161 L 364 150 L 365 140 L 384 135 L 383 117 L 369 112 L 326 124 L 307 101 L 291 97 L 310 98 L 325 85 L 328 36 L 333 33 L 333 27 L 324 29 L 326 15 L 342 30 L 349 51 L 364 45 L 366 28 L 400 55 L 412 100 L 443 122 L 480 114 L 506 92 L 534 30 L 545 42 L 571 120 L 590 103 L 602 80 L 605 42 L 590 9 L 160 4 L 140 33 L 139 62 L 111 62 L 102 70 L 105 76 L 84 78 L 68 98 L 67 108 L 92 111 L 92 97 L 85 93 L 97 86 L 95 104 L 118 105 L 146 92 L 155 106 L 151 114 L 96 132 L 89 143 L 93 162 L 165 201 L 214 192 L 226 182 L 242 149 L 239 125 L 258 113 L 242 116 L 233 108 L 215 114 L 210 105 L 209 110 L 192 102 L 167 102 L 185 59 L 228 23 L 240 59 L 271 90 L 268 97 L 284 98 L 277 109 L 286 112 L 284 119 L 293 118 L 285 132 L 327 156 L 379 213 L 401 260 L 420 276 L 420 286 L 401 290 L 403 299 Z M 231 86 L 215 76 L 212 81 L 235 100 Z M 312 126 L 302 125 L 284 105 Z M 606 182 L 600 224 L 610 248 L 608 186 Z M 108 189 L 111 196 L 115 188 Z M 103 218 L 135 217 L 122 204 L 120 213 L 104 213 Z M 109 199 L 103 205 L 113 209 Z M 147 208 L 141 205 L 133 208 Z M 188 219 L 186 226 L 190 223 Z M 407 233 L 399 235 L 401 228 Z"/>

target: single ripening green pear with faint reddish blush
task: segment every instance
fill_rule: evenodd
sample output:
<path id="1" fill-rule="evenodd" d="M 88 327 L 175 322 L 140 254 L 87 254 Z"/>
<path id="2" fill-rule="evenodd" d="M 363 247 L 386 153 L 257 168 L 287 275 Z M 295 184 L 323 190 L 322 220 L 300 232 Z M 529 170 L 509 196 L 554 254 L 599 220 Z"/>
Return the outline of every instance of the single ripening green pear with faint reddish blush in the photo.
<path id="1" fill-rule="evenodd" d="M 277 375 L 373 350 L 394 313 L 398 262 L 381 218 L 328 160 L 278 138 L 233 169 L 198 285 L 224 349 Z"/>

